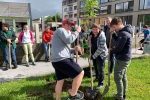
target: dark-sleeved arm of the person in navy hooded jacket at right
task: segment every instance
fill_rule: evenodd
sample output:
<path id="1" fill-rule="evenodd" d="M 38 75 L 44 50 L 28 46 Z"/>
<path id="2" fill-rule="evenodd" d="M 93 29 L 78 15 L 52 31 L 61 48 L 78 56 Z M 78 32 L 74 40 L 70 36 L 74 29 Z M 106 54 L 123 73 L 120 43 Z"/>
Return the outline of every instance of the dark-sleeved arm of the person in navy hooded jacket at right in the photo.
<path id="1" fill-rule="evenodd" d="M 122 51 L 122 49 L 124 48 L 126 42 L 127 42 L 127 36 L 126 36 L 125 33 L 118 36 L 118 39 L 115 43 L 115 46 L 113 46 L 113 48 L 112 48 L 112 52 L 113 53 L 118 53 L 118 52 Z"/>

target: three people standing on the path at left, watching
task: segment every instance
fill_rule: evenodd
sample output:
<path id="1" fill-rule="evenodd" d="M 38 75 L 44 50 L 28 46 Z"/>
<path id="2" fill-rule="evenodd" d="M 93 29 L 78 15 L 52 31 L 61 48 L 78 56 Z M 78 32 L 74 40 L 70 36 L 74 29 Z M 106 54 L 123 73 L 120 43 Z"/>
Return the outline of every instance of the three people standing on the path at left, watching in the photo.
<path id="1" fill-rule="evenodd" d="M 53 31 L 51 31 L 50 27 L 47 26 L 42 35 L 42 40 L 43 40 L 42 44 L 45 51 L 46 61 L 50 60 L 48 51 L 50 49 L 49 47 L 50 47 L 52 36 L 53 36 Z M 0 49 L 3 55 L 2 60 L 4 65 L 3 68 L 4 71 L 8 70 L 11 64 L 13 65 L 12 69 L 16 69 L 18 67 L 17 58 L 16 58 L 16 43 L 19 43 L 23 48 L 26 66 L 27 67 L 30 66 L 29 55 L 32 61 L 31 64 L 36 65 L 35 58 L 33 55 L 33 47 L 32 47 L 32 45 L 35 43 L 34 32 L 30 30 L 28 25 L 24 25 L 22 31 L 19 33 L 19 36 L 16 37 L 15 32 L 9 28 L 9 25 L 7 23 L 3 23 L 2 28 L 0 30 Z M 12 63 L 10 62 L 10 60 Z"/>

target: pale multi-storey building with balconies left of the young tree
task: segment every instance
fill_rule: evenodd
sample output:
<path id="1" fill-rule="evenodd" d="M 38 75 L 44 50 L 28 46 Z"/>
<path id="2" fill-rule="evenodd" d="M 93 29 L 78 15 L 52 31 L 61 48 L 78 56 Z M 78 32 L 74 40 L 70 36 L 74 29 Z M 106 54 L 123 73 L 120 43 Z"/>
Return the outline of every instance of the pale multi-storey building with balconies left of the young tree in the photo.
<path id="1" fill-rule="evenodd" d="M 77 22 L 79 0 L 63 0 L 62 2 L 62 18 L 69 18 Z"/>

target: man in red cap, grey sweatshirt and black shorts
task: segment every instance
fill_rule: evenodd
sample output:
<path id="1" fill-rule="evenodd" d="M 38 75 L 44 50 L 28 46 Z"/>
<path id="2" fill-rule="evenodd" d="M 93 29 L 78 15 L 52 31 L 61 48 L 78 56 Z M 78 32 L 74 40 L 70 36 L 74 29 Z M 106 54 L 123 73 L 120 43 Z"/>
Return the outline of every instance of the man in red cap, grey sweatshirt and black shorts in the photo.
<path id="1" fill-rule="evenodd" d="M 72 78 L 72 88 L 68 90 L 69 100 L 80 100 L 84 98 L 84 93 L 79 91 L 84 71 L 72 59 L 70 44 L 73 43 L 79 33 L 81 27 L 75 27 L 76 31 L 71 32 L 74 23 L 68 19 L 62 21 L 62 28 L 58 28 L 52 39 L 51 61 L 55 69 L 57 83 L 55 86 L 56 100 L 61 100 L 62 87 L 64 79 Z M 80 51 L 80 47 L 76 46 L 75 51 Z"/>

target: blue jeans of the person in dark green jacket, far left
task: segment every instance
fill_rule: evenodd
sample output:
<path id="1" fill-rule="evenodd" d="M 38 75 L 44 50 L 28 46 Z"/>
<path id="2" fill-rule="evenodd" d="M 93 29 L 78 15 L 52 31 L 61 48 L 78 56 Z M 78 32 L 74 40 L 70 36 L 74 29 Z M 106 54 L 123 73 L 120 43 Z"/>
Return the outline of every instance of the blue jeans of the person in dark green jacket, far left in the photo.
<path id="1" fill-rule="evenodd" d="M 9 64 L 9 47 L 6 46 L 5 48 L 2 48 L 3 52 L 3 61 L 5 64 Z M 12 59 L 12 64 L 17 65 L 17 60 L 16 60 L 16 48 L 11 46 L 11 59 Z"/>

